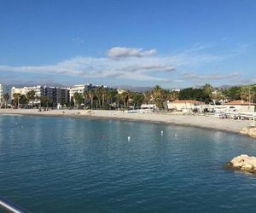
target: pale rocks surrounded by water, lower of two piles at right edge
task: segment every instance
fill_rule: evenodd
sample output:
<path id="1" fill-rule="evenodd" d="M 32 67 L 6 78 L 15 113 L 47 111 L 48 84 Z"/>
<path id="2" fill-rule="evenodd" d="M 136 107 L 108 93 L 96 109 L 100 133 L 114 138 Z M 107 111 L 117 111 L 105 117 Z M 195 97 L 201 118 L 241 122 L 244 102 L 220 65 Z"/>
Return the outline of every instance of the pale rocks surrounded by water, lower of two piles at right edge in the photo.
<path id="1" fill-rule="evenodd" d="M 241 154 L 236 158 L 233 158 L 227 166 L 236 170 L 245 170 L 256 173 L 256 157 Z"/>

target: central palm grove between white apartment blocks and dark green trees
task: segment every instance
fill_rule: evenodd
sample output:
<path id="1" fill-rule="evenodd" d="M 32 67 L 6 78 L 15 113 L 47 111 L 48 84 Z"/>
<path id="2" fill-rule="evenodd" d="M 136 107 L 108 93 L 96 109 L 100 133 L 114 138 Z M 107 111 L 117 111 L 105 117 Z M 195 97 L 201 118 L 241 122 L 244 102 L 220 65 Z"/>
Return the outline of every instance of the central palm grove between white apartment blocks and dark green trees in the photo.
<path id="1" fill-rule="evenodd" d="M 152 91 L 145 93 L 131 90 L 118 93 L 117 89 L 97 87 L 84 91 L 83 94 L 75 93 L 71 98 L 70 106 L 87 109 L 138 109 L 142 104 L 155 104 L 157 108 L 165 107 L 166 101 L 177 99 L 177 92 L 161 89 L 155 86 Z"/>

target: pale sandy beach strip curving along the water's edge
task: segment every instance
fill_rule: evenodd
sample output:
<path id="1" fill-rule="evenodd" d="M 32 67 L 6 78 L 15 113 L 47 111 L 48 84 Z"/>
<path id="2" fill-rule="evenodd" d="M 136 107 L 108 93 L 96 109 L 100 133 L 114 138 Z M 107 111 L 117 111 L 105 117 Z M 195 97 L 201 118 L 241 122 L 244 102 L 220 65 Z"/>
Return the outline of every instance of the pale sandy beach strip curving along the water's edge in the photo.
<path id="1" fill-rule="evenodd" d="M 37 109 L 1 109 L 0 115 L 37 115 L 37 116 L 62 116 L 75 118 L 111 118 L 143 122 L 178 124 L 207 128 L 212 130 L 239 133 L 242 128 L 252 124 L 249 120 L 221 119 L 199 115 L 172 115 L 154 112 L 127 113 L 123 111 L 108 110 L 49 110 L 38 112 Z"/>

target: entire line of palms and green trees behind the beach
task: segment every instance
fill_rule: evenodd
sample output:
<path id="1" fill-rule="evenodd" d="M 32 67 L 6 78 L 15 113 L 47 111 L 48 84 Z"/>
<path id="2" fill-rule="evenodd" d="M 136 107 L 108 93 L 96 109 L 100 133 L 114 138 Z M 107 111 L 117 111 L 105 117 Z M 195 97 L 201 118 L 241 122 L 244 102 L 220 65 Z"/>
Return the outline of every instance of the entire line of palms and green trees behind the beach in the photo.
<path id="1" fill-rule="evenodd" d="M 147 92 L 135 92 L 125 90 L 118 93 L 117 89 L 97 87 L 85 90 L 84 93 L 75 93 L 71 101 L 62 103 L 66 107 L 86 108 L 86 109 L 138 109 L 142 104 L 154 104 L 157 109 L 165 109 L 167 101 L 174 100 L 195 100 L 205 103 L 218 104 L 223 101 L 244 100 L 256 102 L 256 84 L 233 86 L 228 89 L 215 89 L 210 84 L 205 84 L 201 88 L 186 88 L 179 92 L 162 89 L 156 85 L 154 89 Z M 7 106 L 9 94 L 4 94 L 2 107 Z M 34 106 L 34 101 L 40 101 L 41 107 L 53 107 L 53 100 L 49 96 L 36 95 L 34 90 L 27 92 L 26 95 L 14 94 L 12 105 L 14 107 Z"/>

